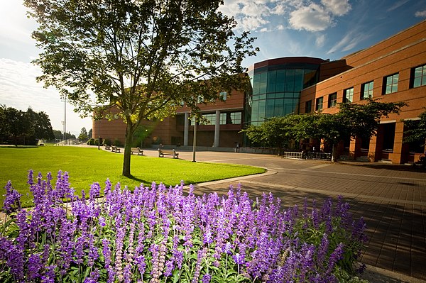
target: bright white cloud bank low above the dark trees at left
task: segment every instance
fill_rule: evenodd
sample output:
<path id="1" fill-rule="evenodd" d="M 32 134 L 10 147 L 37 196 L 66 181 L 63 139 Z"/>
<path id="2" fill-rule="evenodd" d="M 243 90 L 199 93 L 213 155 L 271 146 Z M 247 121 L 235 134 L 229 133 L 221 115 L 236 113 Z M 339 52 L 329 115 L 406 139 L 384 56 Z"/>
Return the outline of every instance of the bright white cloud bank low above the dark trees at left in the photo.
<path id="1" fill-rule="evenodd" d="M 42 83 L 35 82 L 35 77 L 42 74 L 39 67 L 31 63 L 0 58 L 0 104 L 26 111 L 28 107 L 34 111 L 48 114 L 55 130 L 62 131 L 64 121 L 64 103 L 55 89 L 44 89 Z M 92 128 L 90 118 L 80 118 L 67 104 L 67 132 L 77 135 L 82 127 Z"/>

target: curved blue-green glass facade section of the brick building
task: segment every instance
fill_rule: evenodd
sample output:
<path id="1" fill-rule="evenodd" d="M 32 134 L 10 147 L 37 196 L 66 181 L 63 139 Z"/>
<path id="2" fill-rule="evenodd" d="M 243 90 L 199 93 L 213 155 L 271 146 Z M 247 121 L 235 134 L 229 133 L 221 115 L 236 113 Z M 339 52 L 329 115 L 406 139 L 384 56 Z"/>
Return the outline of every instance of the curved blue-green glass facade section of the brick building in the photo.
<path id="1" fill-rule="evenodd" d="M 266 118 L 298 113 L 300 91 L 318 82 L 322 59 L 283 57 L 256 63 L 249 70 L 244 124 L 260 125 Z"/>

